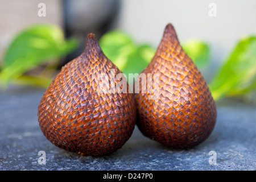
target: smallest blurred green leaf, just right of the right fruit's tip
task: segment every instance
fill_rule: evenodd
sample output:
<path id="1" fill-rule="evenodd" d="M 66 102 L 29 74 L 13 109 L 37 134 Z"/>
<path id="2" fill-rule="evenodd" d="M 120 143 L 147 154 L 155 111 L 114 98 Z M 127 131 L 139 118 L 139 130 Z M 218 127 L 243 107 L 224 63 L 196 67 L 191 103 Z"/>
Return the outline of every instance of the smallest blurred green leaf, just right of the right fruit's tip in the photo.
<path id="1" fill-rule="evenodd" d="M 191 39 L 181 43 L 181 46 L 199 69 L 209 63 L 210 48 L 207 43 L 201 40 Z"/>

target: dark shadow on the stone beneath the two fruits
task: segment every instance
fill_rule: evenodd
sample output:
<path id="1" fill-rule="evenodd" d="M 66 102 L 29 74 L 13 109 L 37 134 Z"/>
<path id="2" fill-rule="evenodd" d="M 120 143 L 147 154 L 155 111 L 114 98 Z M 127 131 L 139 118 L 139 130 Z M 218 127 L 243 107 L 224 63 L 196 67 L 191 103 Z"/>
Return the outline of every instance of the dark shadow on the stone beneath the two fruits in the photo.
<path id="1" fill-rule="evenodd" d="M 211 148 L 216 145 L 217 134 L 212 134 L 207 138 L 204 142 L 193 148 L 185 148 L 185 149 L 174 149 L 164 146 L 152 140 L 150 138 L 145 137 L 141 131 L 139 131 L 138 127 L 135 126 L 133 134 L 130 139 L 119 148 L 117 151 L 103 156 L 81 156 L 79 154 L 75 154 L 73 152 L 65 151 L 59 148 L 60 155 L 66 156 L 67 158 L 80 158 L 81 161 L 85 163 L 88 160 L 96 159 L 96 160 L 110 160 L 110 159 L 121 159 L 121 158 L 144 158 L 146 156 L 151 155 L 165 155 L 168 153 L 180 153 L 180 152 L 196 152 L 200 150 L 205 150 L 205 148 Z M 215 144 L 214 144 L 215 143 Z"/>

